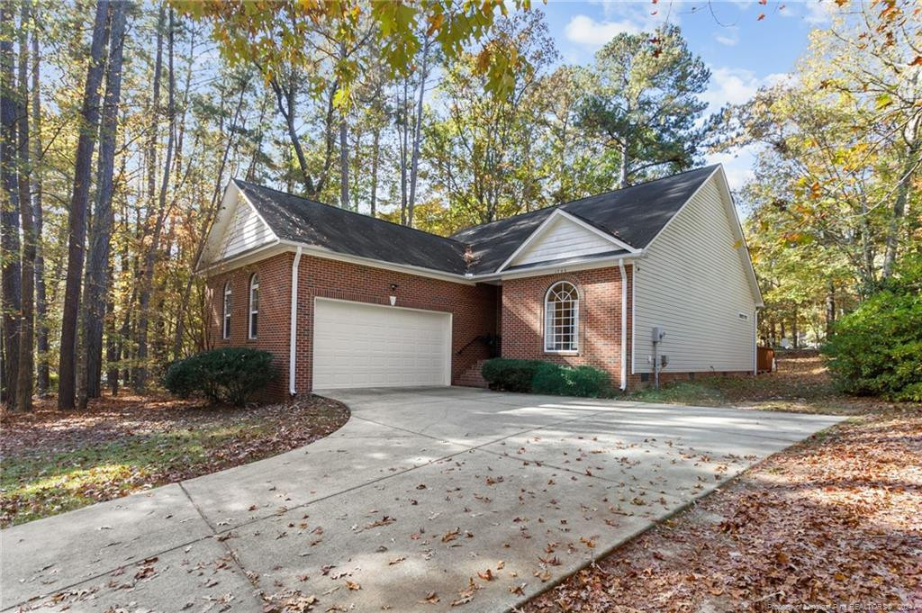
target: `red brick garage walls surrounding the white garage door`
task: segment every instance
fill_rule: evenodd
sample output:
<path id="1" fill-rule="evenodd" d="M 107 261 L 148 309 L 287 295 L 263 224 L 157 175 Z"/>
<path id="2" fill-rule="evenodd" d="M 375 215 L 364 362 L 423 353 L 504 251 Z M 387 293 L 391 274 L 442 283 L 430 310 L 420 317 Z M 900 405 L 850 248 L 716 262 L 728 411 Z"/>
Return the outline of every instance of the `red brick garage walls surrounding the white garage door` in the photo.
<path id="1" fill-rule="evenodd" d="M 272 395 L 288 392 L 291 264 L 293 253 L 283 253 L 254 265 L 244 266 L 208 279 L 212 291 L 211 336 L 215 347 L 256 347 L 275 354 L 279 370 Z M 259 338 L 247 339 L 246 309 L 250 274 L 260 274 Z M 266 281 L 264 281 L 264 276 Z M 231 339 L 220 338 L 221 292 L 231 279 L 233 300 Z M 478 360 L 488 358 L 482 343 L 467 344 L 476 336 L 495 334 L 497 289 L 489 285 L 469 286 L 429 277 L 397 273 L 371 266 L 301 256 L 298 276 L 298 337 L 295 380 L 299 393 L 310 391 L 313 374 L 313 299 L 390 304 L 391 284 L 396 283 L 397 306 L 428 311 L 451 312 L 452 382 Z M 465 348 L 461 355 L 457 351 Z"/>

